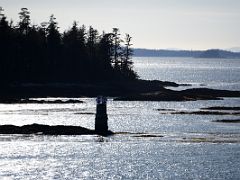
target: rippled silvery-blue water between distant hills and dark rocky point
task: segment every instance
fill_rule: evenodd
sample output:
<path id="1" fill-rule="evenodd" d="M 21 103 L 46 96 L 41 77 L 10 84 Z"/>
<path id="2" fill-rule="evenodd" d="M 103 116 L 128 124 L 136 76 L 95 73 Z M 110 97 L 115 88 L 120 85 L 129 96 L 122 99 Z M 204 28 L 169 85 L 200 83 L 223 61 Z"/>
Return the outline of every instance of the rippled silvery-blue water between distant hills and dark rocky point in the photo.
<path id="1" fill-rule="evenodd" d="M 134 63 L 144 79 L 240 90 L 240 59 L 141 57 Z"/>

